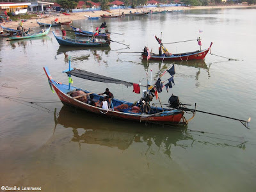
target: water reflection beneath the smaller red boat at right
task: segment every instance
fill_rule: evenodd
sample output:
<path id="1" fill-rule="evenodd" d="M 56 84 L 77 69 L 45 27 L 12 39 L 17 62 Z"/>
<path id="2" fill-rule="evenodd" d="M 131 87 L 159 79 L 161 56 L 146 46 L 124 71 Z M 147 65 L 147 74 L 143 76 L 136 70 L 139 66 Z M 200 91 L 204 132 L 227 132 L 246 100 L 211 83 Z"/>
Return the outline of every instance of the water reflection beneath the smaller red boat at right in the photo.
<path id="1" fill-rule="evenodd" d="M 211 63 L 207 66 L 204 60 L 189 60 L 189 61 L 148 61 L 147 60 L 141 60 L 142 64 L 144 65 L 145 70 L 148 70 L 150 65 L 158 65 L 159 70 L 166 70 L 171 65 L 182 65 L 187 67 L 195 67 L 198 68 L 198 71 L 196 72 L 195 79 L 198 80 L 200 70 L 203 68 L 207 71 L 208 77 L 211 77 L 210 75 L 210 67 Z"/>

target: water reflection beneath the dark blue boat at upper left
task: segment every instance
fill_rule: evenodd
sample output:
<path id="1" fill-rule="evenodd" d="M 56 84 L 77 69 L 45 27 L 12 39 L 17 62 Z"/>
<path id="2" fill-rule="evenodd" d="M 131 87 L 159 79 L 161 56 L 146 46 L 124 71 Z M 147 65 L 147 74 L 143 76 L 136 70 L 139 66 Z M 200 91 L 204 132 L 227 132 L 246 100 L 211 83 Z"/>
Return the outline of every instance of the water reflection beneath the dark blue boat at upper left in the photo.
<path id="1" fill-rule="evenodd" d="M 64 54 L 65 63 L 68 63 L 68 54 L 72 56 L 72 61 L 84 61 L 89 60 L 92 56 L 95 60 L 100 62 L 102 60 L 102 56 L 108 55 L 110 52 L 110 47 L 92 47 L 92 48 L 86 48 L 86 47 L 65 47 L 60 46 L 57 50 L 57 54 L 55 56 L 55 60 L 57 60 L 58 55 Z"/>

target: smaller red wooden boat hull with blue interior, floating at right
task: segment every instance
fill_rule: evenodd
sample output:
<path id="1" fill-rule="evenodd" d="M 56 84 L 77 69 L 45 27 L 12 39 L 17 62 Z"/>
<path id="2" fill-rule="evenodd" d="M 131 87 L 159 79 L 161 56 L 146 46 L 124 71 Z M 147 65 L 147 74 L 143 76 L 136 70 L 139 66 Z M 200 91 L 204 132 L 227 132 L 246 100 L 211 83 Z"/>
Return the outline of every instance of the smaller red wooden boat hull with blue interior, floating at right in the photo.
<path id="1" fill-rule="evenodd" d="M 211 43 L 212 45 L 212 43 Z M 205 56 L 211 49 L 211 45 L 208 49 L 204 49 L 202 51 L 193 51 L 193 52 L 184 52 L 184 53 L 173 53 L 170 56 L 166 56 L 166 54 L 156 54 L 150 53 L 149 60 L 164 60 L 164 61 L 188 61 L 188 60 L 204 60 Z M 146 48 L 147 49 L 147 48 Z M 143 60 L 147 60 L 148 53 L 143 52 L 141 54 Z"/>

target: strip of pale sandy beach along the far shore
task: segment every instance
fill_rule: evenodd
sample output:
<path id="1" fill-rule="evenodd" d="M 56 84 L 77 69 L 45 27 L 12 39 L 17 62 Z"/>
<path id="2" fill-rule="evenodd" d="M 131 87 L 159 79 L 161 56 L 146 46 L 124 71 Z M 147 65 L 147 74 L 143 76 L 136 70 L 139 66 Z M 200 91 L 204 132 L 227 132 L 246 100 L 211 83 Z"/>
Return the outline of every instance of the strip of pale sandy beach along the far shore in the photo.
<path id="1" fill-rule="evenodd" d="M 163 10 L 168 10 L 168 11 L 183 11 L 183 10 L 204 10 L 204 9 L 221 9 L 221 8 L 253 8 L 256 7 L 256 5 L 223 5 L 223 6 L 173 6 L 173 7 L 164 7 L 164 8 L 147 8 L 144 10 L 147 11 L 163 11 Z M 138 10 L 142 9 L 122 9 L 122 10 L 111 10 L 111 13 L 106 12 L 106 11 L 94 11 L 94 12 L 79 12 L 79 13 L 70 13 L 70 15 L 63 15 L 61 13 L 58 13 L 56 15 L 50 15 L 49 18 L 47 19 L 40 19 L 40 22 L 45 22 L 49 23 L 52 20 L 56 19 L 58 17 L 60 22 L 65 22 L 68 20 L 80 20 L 80 19 L 86 19 L 84 15 L 88 15 L 90 17 L 100 17 L 100 15 L 106 14 L 106 15 L 119 15 L 122 14 L 123 12 L 129 13 L 130 11 L 132 13 L 138 12 Z M 55 13 L 55 12 L 52 12 Z M 140 17 L 140 16 L 138 16 Z M 38 18 L 39 19 L 39 18 Z M 2 24 L 3 25 L 3 24 Z M 6 28 L 17 28 L 18 26 L 18 21 L 13 21 L 13 22 L 5 22 L 4 27 Z M 36 19 L 28 19 L 26 22 L 23 23 L 24 28 L 36 28 L 38 27 L 38 24 L 36 22 Z"/>

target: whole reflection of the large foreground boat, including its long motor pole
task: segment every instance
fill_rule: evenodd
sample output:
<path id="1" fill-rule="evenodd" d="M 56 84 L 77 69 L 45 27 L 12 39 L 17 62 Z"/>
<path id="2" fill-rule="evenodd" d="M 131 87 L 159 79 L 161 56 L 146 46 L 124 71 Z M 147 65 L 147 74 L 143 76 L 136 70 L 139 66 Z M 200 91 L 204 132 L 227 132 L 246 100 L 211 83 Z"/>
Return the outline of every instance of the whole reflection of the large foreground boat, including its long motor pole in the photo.
<path id="1" fill-rule="evenodd" d="M 62 125 L 65 128 L 72 128 L 73 136 L 71 141 L 92 145 L 116 147 L 126 150 L 132 144 L 141 143 L 147 145 L 146 155 L 152 150 L 163 152 L 171 157 L 171 150 L 175 147 L 193 148 L 194 145 L 211 145 L 214 147 L 236 147 L 245 149 L 246 141 L 237 141 L 235 138 L 228 138 L 227 135 L 216 135 L 216 140 L 210 140 L 212 134 L 206 132 L 191 132 L 187 127 L 166 126 L 166 125 L 141 125 L 136 122 L 125 122 L 104 118 L 95 114 L 86 113 L 79 109 L 63 106 L 59 113 L 54 113 L 55 127 Z M 114 122 L 115 121 L 115 122 Z M 150 150 L 149 150 L 150 149 Z"/>

